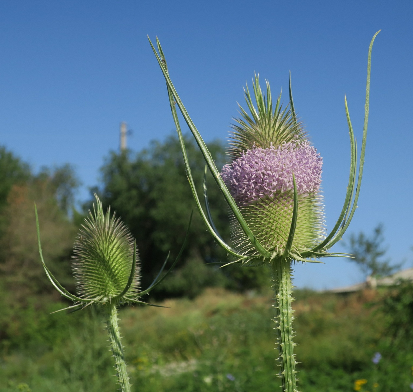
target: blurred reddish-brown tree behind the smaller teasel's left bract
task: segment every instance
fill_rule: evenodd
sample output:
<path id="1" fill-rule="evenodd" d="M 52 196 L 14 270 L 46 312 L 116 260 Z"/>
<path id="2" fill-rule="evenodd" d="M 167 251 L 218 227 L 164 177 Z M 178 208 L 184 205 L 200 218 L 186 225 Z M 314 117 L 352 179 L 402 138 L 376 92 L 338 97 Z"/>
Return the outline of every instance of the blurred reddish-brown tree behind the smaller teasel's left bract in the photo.
<path id="1" fill-rule="evenodd" d="M 66 211 L 59 207 L 56 176 L 59 168 L 50 176 L 43 171 L 26 183 L 13 185 L 2 212 L 7 228 L 0 238 L 0 277 L 10 297 L 22 303 L 30 295 L 53 292 L 38 259 L 35 202 L 42 221 L 43 253 L 50 269 L 62 284 L 73 287 L 69 263 L 76 231 Z"/>

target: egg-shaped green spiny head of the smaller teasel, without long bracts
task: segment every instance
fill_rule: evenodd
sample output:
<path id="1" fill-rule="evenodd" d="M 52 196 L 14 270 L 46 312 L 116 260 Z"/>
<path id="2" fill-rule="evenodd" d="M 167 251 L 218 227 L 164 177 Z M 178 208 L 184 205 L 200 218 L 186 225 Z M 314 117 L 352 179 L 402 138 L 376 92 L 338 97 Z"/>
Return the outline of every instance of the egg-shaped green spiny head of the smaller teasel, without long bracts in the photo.
<path id="1" fill-rule="evenodd" d="M 97 195 L 93 212 L 89 211 L 74 244 L 73 271 L 79 297 L 110 300 L 123 292 L 131 276 L 134 240 L 128 228 L 110 207 L 103 213 Z M 122 300 L 137 298 L 140 288 L 140 265 Z"/>

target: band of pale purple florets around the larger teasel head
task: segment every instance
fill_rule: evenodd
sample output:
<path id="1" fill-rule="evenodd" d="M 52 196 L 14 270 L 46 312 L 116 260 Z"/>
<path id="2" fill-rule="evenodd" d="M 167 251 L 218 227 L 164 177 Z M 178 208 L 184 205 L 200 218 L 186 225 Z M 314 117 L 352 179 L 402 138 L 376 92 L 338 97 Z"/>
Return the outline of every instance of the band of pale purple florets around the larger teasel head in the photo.
<path id="1" fill-rule="evenodd" d="M 221 176 L 239 204 L 292 190 L 294 173 L 299 194 L 320 187 L 323 159 L 309 142 L 253 148 L 222 168 Z"/>

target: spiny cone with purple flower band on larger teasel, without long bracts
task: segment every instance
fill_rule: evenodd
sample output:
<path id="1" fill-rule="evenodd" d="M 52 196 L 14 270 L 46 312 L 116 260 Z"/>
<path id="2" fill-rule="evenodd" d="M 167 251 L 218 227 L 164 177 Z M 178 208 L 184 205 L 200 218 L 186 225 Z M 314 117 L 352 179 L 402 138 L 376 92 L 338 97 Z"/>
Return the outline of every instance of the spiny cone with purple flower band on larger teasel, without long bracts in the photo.
<path id="1" fill-rule="evenodd" d="M 319 192 L 323 160 L 306 138 L 292 110 L 280 107 L 280 97 L 272 107 L 271 90 L 266 97 L 253 81 L 257 109 L 248 87 L 245 99 L 251 115 L 240 107 L 242 119 L 235 119 L 228 155 L 221 176 L 237 202 L 257 240 L 274 256 L 282 255 L 292 222 L 294 185 L 297 183 L 298 216 L 291 252 L 311 249 L 322 238 L 323 206 Z M 237 249 L 251 257 L 256 250 L 233 223 Z"/>

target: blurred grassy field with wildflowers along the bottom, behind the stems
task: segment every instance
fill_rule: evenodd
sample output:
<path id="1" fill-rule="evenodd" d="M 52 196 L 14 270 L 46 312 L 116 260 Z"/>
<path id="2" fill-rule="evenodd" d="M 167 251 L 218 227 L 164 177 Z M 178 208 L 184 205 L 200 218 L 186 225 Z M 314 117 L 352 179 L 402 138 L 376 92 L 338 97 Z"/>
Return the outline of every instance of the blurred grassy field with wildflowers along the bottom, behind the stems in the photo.
<path id="1" fill-rule="evenodd" d="M 392 350 L 383 335 L 385 318 L 366 306 L 378 298 L 376 292 L 340 297 L 297 291 L 296 297 L 301 391 L 352 391 L 356 380 L 363 379 L 367 382 L 357 384 L 361 391 L 411 391 L 412 353 Z M 168 308 L 122 309 L 133 390 L 280 390 L 271 304 L 270 292 L 241 295 L 208 289 L 194 300 L 163 302 Z M 0 392 L 116 390 L 106 331 L 97 311 L 48 315 L 39 310 L 27 316 L 30 328 L 24 332 L 20 326 L 21 340 L 3 341 Z M 383 359 L 375 365 L 371 358 L 378 351 Z"/>

